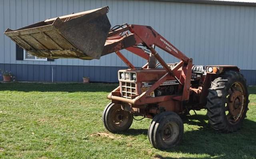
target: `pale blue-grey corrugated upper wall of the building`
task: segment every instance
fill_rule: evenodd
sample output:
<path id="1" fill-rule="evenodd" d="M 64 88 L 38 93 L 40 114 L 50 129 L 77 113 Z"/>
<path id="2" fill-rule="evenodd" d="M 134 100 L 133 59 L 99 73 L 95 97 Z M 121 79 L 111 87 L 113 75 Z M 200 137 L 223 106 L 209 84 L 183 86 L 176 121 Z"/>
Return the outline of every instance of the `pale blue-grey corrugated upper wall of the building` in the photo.
<path id="1" fill-rule="evenodd" d="M 0 63 L 36 65 L 125 66 L 111 54 L 100 60 L 16 61 L 15 45 L 3 32 L 46 18 L 109 6 L 112 26 L 130 23 L 154 27 L 194 59 L 195 64 L 238 65 L 256 70 L 256 7 L 141 0 L 0 0 Z M 160 52 L 167 62 L 174 57 Z M 144 61 L 125 52 L 136 66 Z"/>

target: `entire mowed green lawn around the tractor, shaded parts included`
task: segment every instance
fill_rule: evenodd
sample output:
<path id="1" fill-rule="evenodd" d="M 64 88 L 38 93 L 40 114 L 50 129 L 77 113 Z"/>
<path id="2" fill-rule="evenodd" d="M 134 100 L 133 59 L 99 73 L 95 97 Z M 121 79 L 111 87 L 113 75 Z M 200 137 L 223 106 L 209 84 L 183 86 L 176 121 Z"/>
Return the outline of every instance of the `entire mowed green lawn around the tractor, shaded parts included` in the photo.
<path id="1" fill-rule="evenodd" d="M 0 158 L 230 158 L 256 157 L 256 87 L 241 130 L 222 134 L 208 126 L 206 111 L 190 112 L 182 143 L 154 149 L 149 119 L 108 133 L 101 120 L 107 94 L 117 84 L 0 84 Z"/>

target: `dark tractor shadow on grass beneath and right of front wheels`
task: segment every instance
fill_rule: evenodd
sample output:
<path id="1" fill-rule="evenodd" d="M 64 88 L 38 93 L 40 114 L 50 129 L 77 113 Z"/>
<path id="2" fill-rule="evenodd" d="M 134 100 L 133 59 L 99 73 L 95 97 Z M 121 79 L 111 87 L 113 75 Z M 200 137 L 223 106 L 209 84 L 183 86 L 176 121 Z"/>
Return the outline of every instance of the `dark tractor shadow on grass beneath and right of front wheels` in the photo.
<path id="1" fill-rule="evenodd" d="M 194 155 L 204 154 L 209 156 L 205 158 L 240 159 L 256 157 L 256 122 L 245 119 L 242 129 L 238 132 L 218 133 L 210 128 L 205 120 L 207 120 L 207 117 L 204 115 L 188 116 L 188 118 L 184 120 L 184 123 L 191 125 L 191 128 L 189 127 L 190 130 L 184 132 L 183 140 L 179 146 L 167 150 L 166 152 Z M 196 128 L 193 129 L 193 125 L 196 125 Z M 148 130 L 130 129 L 122 134 L 147 135 Z M 161 155 L 157 155 L 156 158 L 173 159 L 172 157 L 162 157 Z"/>

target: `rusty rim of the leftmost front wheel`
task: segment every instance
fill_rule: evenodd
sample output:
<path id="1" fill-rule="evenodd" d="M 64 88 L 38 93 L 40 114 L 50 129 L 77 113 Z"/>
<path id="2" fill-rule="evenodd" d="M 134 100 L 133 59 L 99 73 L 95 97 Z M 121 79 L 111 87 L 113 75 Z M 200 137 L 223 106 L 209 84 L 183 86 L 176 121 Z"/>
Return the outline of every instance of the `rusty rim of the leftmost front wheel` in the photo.
<path id="1" fill-rule="evenodd" d="M 113 111 L 112 121 L 115 126 L 123 127 L 128 123 L 129 112 L 122 110 L 121 108 L 117 108 Z"/>

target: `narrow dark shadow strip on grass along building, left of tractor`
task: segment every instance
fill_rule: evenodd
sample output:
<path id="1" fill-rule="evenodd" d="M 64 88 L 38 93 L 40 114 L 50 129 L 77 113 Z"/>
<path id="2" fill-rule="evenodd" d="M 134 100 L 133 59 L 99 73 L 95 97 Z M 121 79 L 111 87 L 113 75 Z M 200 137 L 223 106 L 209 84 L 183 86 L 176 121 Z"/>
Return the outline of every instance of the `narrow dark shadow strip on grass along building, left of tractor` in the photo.
<path id="1" fill-rule="evenodd" d="M 0 83 L 0 91 L 22 92 L 111 92 L 118 84 L 102 83 Z"/>

